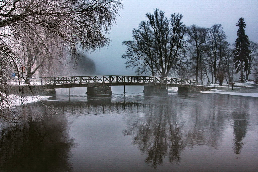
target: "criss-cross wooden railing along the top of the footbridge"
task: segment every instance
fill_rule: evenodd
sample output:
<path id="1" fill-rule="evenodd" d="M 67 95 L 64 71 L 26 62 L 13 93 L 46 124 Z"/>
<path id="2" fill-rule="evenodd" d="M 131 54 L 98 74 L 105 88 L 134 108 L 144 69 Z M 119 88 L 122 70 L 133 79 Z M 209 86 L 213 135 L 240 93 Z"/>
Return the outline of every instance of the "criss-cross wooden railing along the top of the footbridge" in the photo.
<path id="1" fill-rule="evenodd" d="M 152 76 L 61 76 L 41 77 L 42 85 L 98 84 L 98 83 L 144 83 L 168 85 L 196 85 L 195 79 L 166 78 Z"/>

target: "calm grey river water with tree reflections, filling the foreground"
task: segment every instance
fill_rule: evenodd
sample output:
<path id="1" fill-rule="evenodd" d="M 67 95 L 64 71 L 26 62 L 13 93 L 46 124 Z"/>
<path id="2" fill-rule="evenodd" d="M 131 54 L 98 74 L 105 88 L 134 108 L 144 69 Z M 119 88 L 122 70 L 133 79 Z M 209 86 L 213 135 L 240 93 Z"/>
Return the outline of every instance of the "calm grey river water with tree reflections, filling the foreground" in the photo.
<path id="1" fill-rule="evenodd" d="M 0 171 L 258 169 L 257 98 L 170 92 L 52 99 L 46 102 L 60 110 L 56 116 L 2 130 Z"/>

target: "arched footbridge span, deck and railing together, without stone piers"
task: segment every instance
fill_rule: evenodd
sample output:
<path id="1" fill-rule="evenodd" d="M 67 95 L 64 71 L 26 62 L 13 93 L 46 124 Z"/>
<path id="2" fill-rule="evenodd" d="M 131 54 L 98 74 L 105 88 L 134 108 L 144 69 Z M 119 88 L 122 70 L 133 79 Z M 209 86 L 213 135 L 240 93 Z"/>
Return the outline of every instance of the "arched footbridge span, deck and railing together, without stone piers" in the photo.
<path id="1" fill-rule="evenodd" d="M 62 76 L 41 77 L 41 84 L 47 88 L 113 86 L 113 85 L 151 85 L 169 87 L 195 87 L 196 80 L 152 76 Z"/>

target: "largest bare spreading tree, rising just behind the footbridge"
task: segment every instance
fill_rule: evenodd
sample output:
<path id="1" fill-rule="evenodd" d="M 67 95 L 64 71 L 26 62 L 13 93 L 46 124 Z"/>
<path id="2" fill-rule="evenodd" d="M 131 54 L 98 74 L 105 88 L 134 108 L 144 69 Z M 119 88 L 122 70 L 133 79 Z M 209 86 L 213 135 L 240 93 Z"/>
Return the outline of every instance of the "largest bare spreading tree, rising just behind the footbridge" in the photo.
<path id="1" fill-rule="evenodd" d="M 159 9 L 154 14 L 147 13 L 148 21 L 142 21 L 139 29 L 132 31 L 134 40 L 123 42 L 127 51 L 122 58 L 127 59 L 127 67 L 137 68 L 138 75 L 151 71 L 153 76 L 156 73 L 167 77 L 186 56 L 187 28 L 181 22 L 183 15 L 174 13 L 168 20 L 164 13 Z"/>

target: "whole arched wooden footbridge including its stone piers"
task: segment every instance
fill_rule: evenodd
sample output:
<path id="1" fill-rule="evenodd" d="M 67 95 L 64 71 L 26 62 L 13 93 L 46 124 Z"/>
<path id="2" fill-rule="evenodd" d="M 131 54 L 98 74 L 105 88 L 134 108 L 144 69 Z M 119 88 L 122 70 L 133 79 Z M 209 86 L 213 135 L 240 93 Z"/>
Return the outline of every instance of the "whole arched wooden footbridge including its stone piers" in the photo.
<path id="1" fill-rule="evenodd" d="M 111 94 L 111 88 L 106 86 L 117 85 L 145 86 L 145 93 L 164 93 L 166 92 L 166 87 L 180 87 L 183 91 L 188 91 L 189 88 L 191 90 L 194 88 L 195 91 L 196 88 L 205 88 L 196 86 L 196 80 L 194 79 L 117 75 L 41 77 L 41 84 L 49 89 L 91 87 L 91 89 L 88 88 L 88 92 L 94 92 L 94 94 Z"/>

